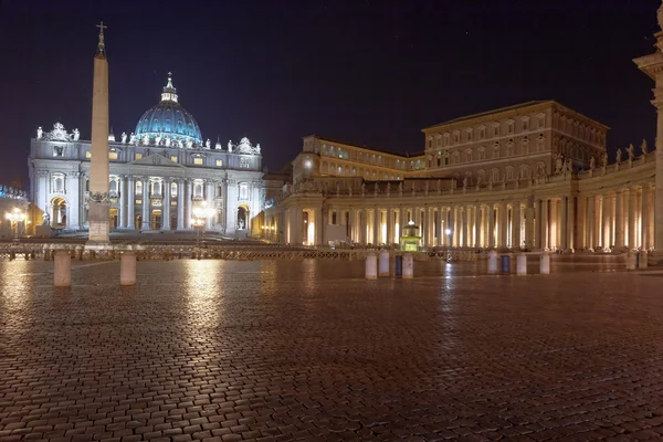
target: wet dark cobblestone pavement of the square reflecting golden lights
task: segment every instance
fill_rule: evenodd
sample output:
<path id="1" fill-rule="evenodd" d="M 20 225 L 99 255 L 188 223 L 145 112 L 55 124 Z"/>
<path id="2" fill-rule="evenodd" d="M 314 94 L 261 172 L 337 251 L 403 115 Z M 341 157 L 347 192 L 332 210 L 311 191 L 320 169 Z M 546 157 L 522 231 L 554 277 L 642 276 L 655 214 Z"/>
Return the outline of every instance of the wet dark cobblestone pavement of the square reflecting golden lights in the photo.
<path id="1" fill-rule="evenodd" d="M 1 262 L 0 442 L 663 439 L 663 275 L 362 265 Z"/>

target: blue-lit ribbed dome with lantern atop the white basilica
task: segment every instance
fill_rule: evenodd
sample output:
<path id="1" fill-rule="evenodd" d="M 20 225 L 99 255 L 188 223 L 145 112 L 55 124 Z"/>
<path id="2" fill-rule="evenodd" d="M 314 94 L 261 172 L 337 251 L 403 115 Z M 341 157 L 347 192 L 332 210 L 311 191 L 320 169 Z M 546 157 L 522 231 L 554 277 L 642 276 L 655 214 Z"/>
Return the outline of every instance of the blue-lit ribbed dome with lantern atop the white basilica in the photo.
<path id="1" fill-rule="evenodd" d="M 164 87 L 161 102 L 147 110 L 136 125 L 136 139 L 149 144 L 164 145 L 172 143 L 177 146 L 202 146 L 202 134 L 196 119 L 178 103 L 176 88 L 172 86 L 171 74 L 168 73 L 168 84 Z M 169 141 L 166 141 L 170 138 Z"/>

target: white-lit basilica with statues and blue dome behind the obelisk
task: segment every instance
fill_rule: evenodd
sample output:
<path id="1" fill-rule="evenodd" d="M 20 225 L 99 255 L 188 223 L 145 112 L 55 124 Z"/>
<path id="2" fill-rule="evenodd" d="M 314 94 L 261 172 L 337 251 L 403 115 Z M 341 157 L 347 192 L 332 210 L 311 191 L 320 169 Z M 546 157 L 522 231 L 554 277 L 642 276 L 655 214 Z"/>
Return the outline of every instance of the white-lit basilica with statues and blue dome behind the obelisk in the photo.
<path id="1" fill-rule="evenodd" d="M 38 224 L 88 228 L 91 158 L 91 141 L 81 139 L 78 129 L 70 133 L 60 123 L 52 130 L 38 128 L 28 161 Z M 249 138 L 227 145 L 203 139 L 170 76 L 160 102 L 145 112 L 133 133 L 108 135 L 108 159 L 112 229 L 191 230 L 196 208 L 204 207 L 207 230 L 233 238 L 260 231 L 260 145 Z"/>

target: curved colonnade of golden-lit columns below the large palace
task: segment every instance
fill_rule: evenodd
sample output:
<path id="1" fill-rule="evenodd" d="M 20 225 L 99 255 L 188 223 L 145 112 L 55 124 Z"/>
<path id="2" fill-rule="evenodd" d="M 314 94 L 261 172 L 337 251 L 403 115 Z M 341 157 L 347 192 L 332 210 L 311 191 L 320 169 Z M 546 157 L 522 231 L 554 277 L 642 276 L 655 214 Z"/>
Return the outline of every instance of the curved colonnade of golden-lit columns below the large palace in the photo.
<path id="1" fill-rule="evenodd" d="M 565 251 L 654 246 L 650 182 L 567 194 L 549 189 L 540 196 L 494 201 L 417 200 L 401 197 L 368 204 L 362 199 L 347 204 L 330 199 L 312 208 L 291 206 L 266 220 L 266 236 L 290 244 L 327 245 L 340 234 L 355 244 L 391 245 L 399 243 L 403 227 L 413 223 L 420 228 L 421 246 Z M 340 227 L 334 238 L 327 225 Z"/>

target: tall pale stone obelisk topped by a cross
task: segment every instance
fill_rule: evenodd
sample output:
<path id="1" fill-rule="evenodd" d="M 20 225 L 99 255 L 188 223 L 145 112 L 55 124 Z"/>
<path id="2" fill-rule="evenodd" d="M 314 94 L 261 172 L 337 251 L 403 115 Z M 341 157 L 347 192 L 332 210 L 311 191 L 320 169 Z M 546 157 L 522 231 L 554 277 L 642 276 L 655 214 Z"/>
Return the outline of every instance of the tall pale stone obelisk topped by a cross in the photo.
<path id="1" fill-rule="evenodd" d="M 90 245 L 109 244 L 108 201 L 108 61 L 104 22 L 97 24 L 99 42 L 94 57 L 92 86 L 92 158 L 90 160 Z"/>

